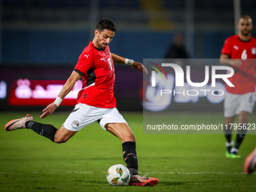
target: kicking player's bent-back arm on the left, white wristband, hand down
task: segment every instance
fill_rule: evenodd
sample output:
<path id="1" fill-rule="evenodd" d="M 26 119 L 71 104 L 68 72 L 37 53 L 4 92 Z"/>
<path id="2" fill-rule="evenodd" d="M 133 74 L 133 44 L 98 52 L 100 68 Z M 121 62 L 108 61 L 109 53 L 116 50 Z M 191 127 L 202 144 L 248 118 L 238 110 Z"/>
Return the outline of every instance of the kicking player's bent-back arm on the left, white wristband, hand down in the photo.
<path id="1" fill-rule="evenodd" d="M 47 105 L 46 108 L 43 110 L 43 114 L 41 114 L 41 118 L 47 117 L 49 114 L 52 114 L 59 104 L 62 102 L 62 99 L 72 90 L 75 85 L 75 82 L 81 78 L 81 75 L 78 72 L 73 71 L 70 75 L 69 79 L 66 81 L 66 84 L 62 87 L 59 91 L 59 95 L 57 96 L 55 102 L 50 103 Z"/>

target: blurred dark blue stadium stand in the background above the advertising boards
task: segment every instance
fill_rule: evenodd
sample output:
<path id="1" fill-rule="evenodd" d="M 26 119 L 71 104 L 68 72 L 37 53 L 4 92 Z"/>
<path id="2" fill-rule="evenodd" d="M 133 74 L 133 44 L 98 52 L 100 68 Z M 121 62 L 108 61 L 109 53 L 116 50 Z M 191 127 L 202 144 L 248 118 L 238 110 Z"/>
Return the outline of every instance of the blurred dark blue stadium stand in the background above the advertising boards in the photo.
<path id="1" fill-rule="evenodd" d="M 2 63 L 76 62 L 90 40 L 90 2 L 2 0 Z M 98 17 L 111 18 L 117 25 L 111 50 L 120 55 L 141 62 L 151 56 L 161 58 L 175 32 L 184 33 L 186 0 L 96 2 Z M 242 14 L 255 19 L 255 8 L 255 1 L 241 1 Z M 224 39 L 234 32 L 233 23 L 233 1 L 194 0 L 195 53 L 191 56 L 218 58 Z M 136 46 L 130 45 L 132 40 Z M 38 52 L 41 56 L 36 56 Z"/>

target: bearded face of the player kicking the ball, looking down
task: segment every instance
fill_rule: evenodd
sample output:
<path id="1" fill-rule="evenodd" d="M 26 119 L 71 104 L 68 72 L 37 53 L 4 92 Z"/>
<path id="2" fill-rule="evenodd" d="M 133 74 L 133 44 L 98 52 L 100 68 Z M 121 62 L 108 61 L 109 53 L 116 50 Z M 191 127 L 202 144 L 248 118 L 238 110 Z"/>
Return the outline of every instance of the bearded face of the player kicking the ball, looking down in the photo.
<path id="1" fill-rule="evenodd" d="M 96 30 L 95 36 L 98 48 L 105 50 L 112 38 L 114 38 L 114 32 L 108 29 L 104 29 L 102 32 Z"/>

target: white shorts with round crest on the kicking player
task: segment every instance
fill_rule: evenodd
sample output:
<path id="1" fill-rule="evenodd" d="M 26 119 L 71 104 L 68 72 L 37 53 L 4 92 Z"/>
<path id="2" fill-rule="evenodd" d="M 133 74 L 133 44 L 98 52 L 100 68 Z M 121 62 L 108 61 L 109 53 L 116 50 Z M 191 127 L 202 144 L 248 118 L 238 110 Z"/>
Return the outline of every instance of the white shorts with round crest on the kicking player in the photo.
<path id="1" fill-rule="evenodd" d="M 98 121 L 103 130 L 106 130 L 106 123 L 128 124 L 117 108 L 96 108 L 84 103 L 78 103 L 62 126 L 67 130 L 78 131 L 94 121 Z"/>

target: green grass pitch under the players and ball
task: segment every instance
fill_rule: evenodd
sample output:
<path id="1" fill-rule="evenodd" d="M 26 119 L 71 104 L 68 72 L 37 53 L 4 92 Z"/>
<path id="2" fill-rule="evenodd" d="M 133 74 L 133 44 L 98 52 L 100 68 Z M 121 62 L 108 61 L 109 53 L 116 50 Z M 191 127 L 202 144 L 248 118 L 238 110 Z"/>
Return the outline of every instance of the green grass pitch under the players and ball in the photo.
<path id="1" fill-rule="evenodd" d="M 97 124 L 79 131 L 69 142 L 55 144 L 32 130 L 6 132 L 5 123 L 21 113 L 0 113 L 0 191 L 256 191 L 256 174 L 242 173 L 245 157 L 256 145 L 247 135 L 241 159 L 227 159 L 223 135 L 145 135 L 142 113 L 123 113 L 137 139 L 141 175 L 159 178 L 154 187 L 112 187 L 105 174 L 122 163 L 121 142 Z M 68 112 L 35 121 L 59 128 Z M 202 116 L 203 115 L 203 116 Z M 172 113 L 170 118 L 189 124 L 200 118 L 222 123 L 222 114 Z M 256 123 L 251 114 L 251 123 Z M 234 136 L 233 136 L 234 139 Z"/>

